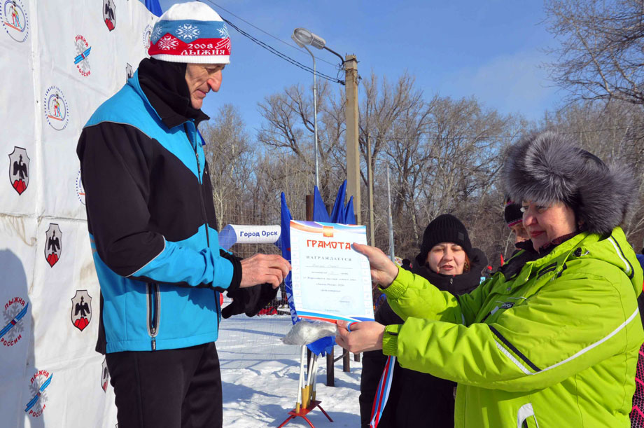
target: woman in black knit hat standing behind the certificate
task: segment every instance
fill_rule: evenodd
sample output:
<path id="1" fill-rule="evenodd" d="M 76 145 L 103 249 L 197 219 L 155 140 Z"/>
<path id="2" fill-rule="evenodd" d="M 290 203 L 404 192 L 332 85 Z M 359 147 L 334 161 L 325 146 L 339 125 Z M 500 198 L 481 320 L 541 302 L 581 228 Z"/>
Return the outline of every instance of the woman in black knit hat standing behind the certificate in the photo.
<path id="1" fill-rule="evenodd" d="M 423 233 L 423 242 L 413 263 L 412 272 L 428 279 L 436 287 L 451 294 L 465 294 L 479 284 L 487 258 L 472 248 L 468 230 L 451 214 L 437 216 Z M 380 324 L 402 324 L 385 301 L 375 319 Z M 381 351 L 365 352 L 360 379 L 360 423 L 369 427 L 374 396 L 386 365 Z M 454 426 L 455 382 L 435 378 L 426 373 L 407 370 L 395 363 L 393 380 L 379 428 L 420 427 L 431 415 L 433 426 Z"/>

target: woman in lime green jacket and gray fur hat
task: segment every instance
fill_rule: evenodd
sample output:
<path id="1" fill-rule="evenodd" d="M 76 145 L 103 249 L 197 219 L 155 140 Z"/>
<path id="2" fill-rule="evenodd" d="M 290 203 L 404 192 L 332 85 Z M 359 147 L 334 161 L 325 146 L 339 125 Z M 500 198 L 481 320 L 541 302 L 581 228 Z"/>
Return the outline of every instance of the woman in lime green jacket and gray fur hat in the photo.
<path id="1" fill-rule="evenodd" d="M 552 132 L 512 146 L 503 174 L 531 236 L 522 268 L 457 298 L 356 244 L 405 322 L 339 322 L 337 342 L 458 382 L 456 427 L 629 427 L 644 275 L 618 225 L 633 176 Z"/>

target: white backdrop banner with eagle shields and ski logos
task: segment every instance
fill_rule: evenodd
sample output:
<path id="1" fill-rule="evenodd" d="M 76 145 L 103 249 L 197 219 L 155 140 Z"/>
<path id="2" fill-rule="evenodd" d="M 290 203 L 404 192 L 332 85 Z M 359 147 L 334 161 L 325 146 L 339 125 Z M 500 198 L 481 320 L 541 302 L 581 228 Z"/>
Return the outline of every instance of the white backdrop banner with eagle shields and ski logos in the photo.
<path id="1" fill-rule="evenodd" d="M 138 0 L 0 0 L 1 427 L 116 426 L 76 142 L 155 20 Z"/>

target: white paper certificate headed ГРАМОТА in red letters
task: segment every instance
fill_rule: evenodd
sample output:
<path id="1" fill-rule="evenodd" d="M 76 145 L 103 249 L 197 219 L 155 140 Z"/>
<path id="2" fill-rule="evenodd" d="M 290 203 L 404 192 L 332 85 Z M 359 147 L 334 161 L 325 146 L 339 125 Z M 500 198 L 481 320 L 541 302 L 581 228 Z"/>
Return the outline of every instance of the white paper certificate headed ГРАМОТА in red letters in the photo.
<path id="1" fill-rule="evenodd" d="M 367 244 L 365 226 L 290 221 L 293 303 L 298 317 L 373 320 L 369 260 L 351 248 Z"/>

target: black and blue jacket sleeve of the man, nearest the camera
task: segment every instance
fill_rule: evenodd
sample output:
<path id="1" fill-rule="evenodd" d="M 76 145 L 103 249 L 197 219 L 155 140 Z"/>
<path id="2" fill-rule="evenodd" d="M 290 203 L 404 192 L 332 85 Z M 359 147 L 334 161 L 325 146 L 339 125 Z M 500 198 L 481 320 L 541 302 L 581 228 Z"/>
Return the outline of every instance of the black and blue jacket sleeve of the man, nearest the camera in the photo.
<path id="1" fill-rule="evenodd" d="M 122 123 L 92 125 L 80 135 L 77 153 L 87 223 L 99 257 L 116 274 L 146 282 L 220 291 L 229 289 L 231 282 L 239 287 L 239 263 L 221 256 L 218 249 L 197 250 L 167 240 L 155 226 L 160 213 L 152 213 L 149 205 L 159 147 Z"/>

